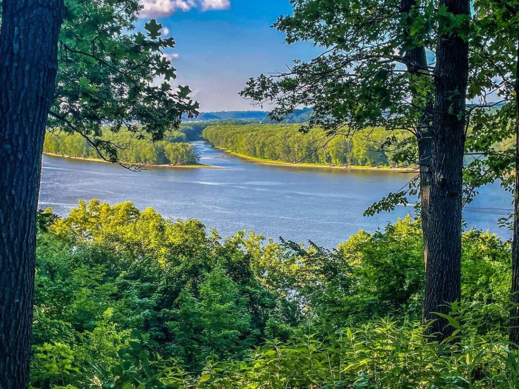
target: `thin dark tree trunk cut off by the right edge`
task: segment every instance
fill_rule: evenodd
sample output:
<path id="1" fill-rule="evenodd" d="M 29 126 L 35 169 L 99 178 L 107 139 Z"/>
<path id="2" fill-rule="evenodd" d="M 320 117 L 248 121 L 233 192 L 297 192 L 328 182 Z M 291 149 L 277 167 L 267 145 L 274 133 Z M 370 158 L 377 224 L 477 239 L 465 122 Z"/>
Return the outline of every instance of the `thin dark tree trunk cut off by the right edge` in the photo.
<path id="1" fill-rule="evenodd" d="M 515 75 L 515 194 L 514 233 L 512 239 L 512 303 L 509 340 L 519 345 L 519 37 L 517 38 Z"/>

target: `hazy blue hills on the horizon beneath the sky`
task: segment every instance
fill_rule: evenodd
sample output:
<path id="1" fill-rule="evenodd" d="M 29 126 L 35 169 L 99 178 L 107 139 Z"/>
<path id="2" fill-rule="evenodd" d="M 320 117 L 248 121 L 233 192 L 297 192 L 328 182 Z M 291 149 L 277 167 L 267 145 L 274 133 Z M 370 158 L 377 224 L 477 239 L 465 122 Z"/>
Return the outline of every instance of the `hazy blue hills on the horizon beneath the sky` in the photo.
<path id="1" fill-rule="evenodd" d="M 287 116 L 283 123 L 302 123 L 308 120 L 311 115 L 311 108 L 296 109 L 295 112 Z M 187 116 L 182 117 L 182 121 L 200 122 L 200 121 L 221 121 L 221 120 L 247 120 L 254 122 L 275 123 L 268 117 L 267 111 L 220 111 L 220 112 L 201 112 L 197 118 L 189 119 Z"/>

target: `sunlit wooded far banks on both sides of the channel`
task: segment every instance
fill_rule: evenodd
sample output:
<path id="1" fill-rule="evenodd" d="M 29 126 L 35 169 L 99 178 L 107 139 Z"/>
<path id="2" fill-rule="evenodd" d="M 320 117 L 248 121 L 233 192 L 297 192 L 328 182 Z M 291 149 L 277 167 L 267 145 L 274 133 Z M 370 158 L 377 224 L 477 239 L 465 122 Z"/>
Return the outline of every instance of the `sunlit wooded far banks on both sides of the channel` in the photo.
<path id="1" fill-rule="evenodd" d="M 417 174 L 417 170 L 412 166 L 391 166 L 384 154 L 375 149 L 375 146 L 387 137 L 383 129 L 358 134 L 351 139 L 334 138 L 324 147 L 317 147 L 316 142 L 322 138 L 319 130 L 302 134 L 299 132 L 299 126 L 294 124 L 188 124 L 190 126 L 185 125 L 180 131 L 170 132 L 165 140 L 159 142 L 153 142 L 149 138 L 135 138 L 129 131 L 105 133 L 103 139 L 114 144 L 128 145 L 118 153 L 119 160 L 124 161 L 124 164 L 149 168 L 223 169 L 221 166 L 199 163 L 198 151 L 189 142 L 203 139 L 215 149 L 256 164 L 296 169 L 371 170 Z M 48 133 L 45 137 L 44 154 L 108 162 L 99 158 L 97 152 L 78 134 Z M 300 160 L 308 162 L 293 162 Z"/>

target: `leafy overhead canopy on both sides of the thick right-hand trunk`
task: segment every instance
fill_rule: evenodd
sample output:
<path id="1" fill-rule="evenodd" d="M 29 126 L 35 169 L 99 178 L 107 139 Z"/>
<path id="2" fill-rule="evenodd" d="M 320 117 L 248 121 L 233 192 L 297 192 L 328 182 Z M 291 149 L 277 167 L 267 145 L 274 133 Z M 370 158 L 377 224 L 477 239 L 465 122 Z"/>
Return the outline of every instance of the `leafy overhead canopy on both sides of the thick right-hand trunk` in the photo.
<path id="1" fill-rule="evenodd" d="M 498 103 L 512 100 L 515 68 L 510 58 L 515 54 L 519 24 L 516 1 L 477 0 L 472 16 L 455 15 L 439 1 L 291 3 L 293 15 L 280 17 L 273 27 L 285 34 L 287 44 L 311 41 L 322 52 L 309 61 L 295 60 L 285 72 L 249 79 L 242 96 L 258 105 L 275 103 L 270 114 L 275 120 L 301 106 L 313 108 L 302 125 L 305 132 L 321 128 L 326 135 L 351 137 L 377 127 L 408 131 L 405 141 L 388 135 L 380 151 L 393 164 L 427 167 L 430 158 L 419 155 L 417 144 L 430 138 L 434 81 L 438 78 L 436 47 L 440 35 L 457 34 L 470 46 L 467 97 L 477 102 L 463 110 L 455 104 L 448 106 L 449 113 L 469 119 L 466 202 L 472 200 L 477 187 L 507 176 L 513 153 L 498 152 L 490 160 L 482 146 L 490 139 L 494 147 L 505 142 L 513 127 L 508 126 L 506 133 L 502 130 L 506 126 L 501 127 L 494 135 L 479 128 L 496 127 L 491 122 L 502 122 L 505 116 L 510 120 L 513 114 L 510 107 L 501 113 L 501 119 L 489 119 L 489 112 L 494 112 Z M 497 102 L 488 102 L 489 95 Z M 419 180 L 415 183 L 420 185 Z M 391 201 L 397 205 L 401 202 L 398 199 L 385 199 L 378 205 L 391 210 Z"/>

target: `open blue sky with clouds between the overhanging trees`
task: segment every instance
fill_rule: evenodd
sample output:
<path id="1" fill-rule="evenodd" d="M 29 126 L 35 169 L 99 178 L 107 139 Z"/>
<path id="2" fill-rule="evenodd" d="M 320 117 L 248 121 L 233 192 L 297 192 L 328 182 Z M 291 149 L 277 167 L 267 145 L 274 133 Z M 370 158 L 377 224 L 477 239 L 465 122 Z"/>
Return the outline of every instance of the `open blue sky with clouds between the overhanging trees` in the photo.
<path id="1" fill-rule="evenodd" d="M 176 41 L 168 54 L 177 82 L 189 85 L 202 112 L 253 108 L 238 92 L 249 77 L 286 70 L 318 53 L 310 43 L 288 46 L 270 28 L 291 12 L 289 0 L 142 0 L 143 20 L 156 18 Z M 264 106 L 269 110 L 269 106 Z"/>

